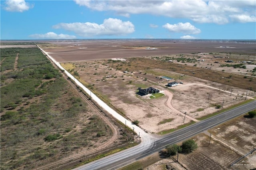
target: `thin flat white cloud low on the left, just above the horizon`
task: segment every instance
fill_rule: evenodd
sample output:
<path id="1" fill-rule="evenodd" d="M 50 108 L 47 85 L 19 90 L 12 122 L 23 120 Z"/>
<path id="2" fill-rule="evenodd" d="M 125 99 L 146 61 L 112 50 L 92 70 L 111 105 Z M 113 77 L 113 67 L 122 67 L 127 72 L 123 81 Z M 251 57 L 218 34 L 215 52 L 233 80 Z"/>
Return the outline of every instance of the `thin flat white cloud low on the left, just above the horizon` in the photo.
<path id="1" fill-rule="evenodd" d="M 70 36 L 67 34 L 56 34 L 54 32 L 48 32 L 46 34 L 32 34 L 31 38 L 35 39 L 75 39 L 76 36 Z"/>

